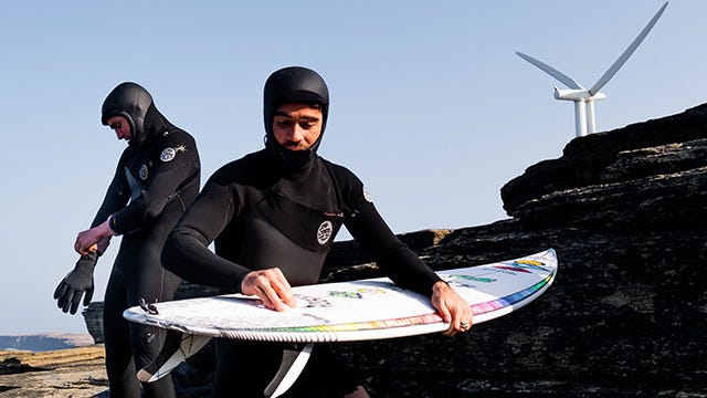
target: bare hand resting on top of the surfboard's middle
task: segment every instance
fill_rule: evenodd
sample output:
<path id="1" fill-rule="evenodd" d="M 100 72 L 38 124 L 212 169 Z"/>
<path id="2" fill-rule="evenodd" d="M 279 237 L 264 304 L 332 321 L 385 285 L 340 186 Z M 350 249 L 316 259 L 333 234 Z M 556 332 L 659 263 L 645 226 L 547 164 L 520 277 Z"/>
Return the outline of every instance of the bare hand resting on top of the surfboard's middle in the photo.
<path id="1" fill-rule="evenodd" d="M 256 295 L 266 307 L 275 311 L 297 306 L 297 300 L 292 294 L 289 282 L 278 268 L 252 271 L 241 282 L 241 293 Z"/>

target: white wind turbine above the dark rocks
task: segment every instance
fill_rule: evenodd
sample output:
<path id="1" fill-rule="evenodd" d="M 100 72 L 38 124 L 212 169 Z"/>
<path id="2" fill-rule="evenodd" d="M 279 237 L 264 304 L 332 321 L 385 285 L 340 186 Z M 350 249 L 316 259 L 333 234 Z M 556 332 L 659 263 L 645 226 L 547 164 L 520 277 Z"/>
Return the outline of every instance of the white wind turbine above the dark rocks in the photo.
<path id="1" fill-rule="evenodd" d="M 561 83 L 563 83 L 566 86 L 569 87 L 567 90 L 562 90 L 555 86 L 555 98 L 574 102 L 574 129 L 578 137 L 585 136 L 588 132 L 590 134 L 595 132 L 594 101 L 603 100 L 606 97 L 606 95 L 604 95 L 603 93 L 600 93 L 599 91 L 606 83 L 609 83 L 611 77 L 613 77 L 614 74 L 619 72 L 621 66 L 623 66 L 623 64 L 626 62 L 626 60 L 629 60 L 631 54 L 633 54 L 633 52 L 639 48 L 641 42 L 643 42 L 643 39 L 645 39 L 648 32 L 651 32 L 651 29 L 653 29 L 653 25 L 655 25 L 655 23 L 658 21 L 658 19 L 663 14 L 663 11 L 665 11 L 667 3 L 668 2 L 666 1 L 665 4 L 661 7 L 658 12 L 655 13 L 653 19 L 651 19 L 651 21 L 648 22 L 648 24 L 645 25 L 645 28 L 643 28 L 641 33 L 639 33 L 639 36 L 636 36 L 633 40 L 631 45 L 629 45 L 629 48 L 623 52 L 623 54 L 621 54 L 621 56 L 619 56 L 619 59 L 614 61 L 611 67 L 609 67 L 609 70 L 606 70 L 606 72 L 604 72 L 604 74 L 601 77 L 599 77 L 597 83 L 594 83 L 594 85 L 589 90 L 582 87 L 581 84 L 577 83 L 571 77 L 567 76 L 562 72 L 556 70 L 555 67 L 544 63 L 542 61 L 539 61 L 537 59 L 534 59 L 530 55 L 516 51 L 516 54 L 518 54 L 518 56 L 536 65 L 537 67 L 539 67 L 540 70 L 542 70 L 544 72 L 557 78 L 558 81 L 560 81 Z"/>

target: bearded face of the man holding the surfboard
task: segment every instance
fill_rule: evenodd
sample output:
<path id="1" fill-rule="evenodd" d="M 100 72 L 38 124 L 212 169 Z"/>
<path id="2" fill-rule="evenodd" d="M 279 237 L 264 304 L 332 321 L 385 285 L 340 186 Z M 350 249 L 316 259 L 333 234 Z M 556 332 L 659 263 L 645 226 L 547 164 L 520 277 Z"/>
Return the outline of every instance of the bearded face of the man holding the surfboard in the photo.
<path id="1" fill-rule="evenodd" d="M 309 149 L 321 135 L 321 109 L 309 104 L 284 104 L 275 111 L 273 135 L 289 150 Z"/>

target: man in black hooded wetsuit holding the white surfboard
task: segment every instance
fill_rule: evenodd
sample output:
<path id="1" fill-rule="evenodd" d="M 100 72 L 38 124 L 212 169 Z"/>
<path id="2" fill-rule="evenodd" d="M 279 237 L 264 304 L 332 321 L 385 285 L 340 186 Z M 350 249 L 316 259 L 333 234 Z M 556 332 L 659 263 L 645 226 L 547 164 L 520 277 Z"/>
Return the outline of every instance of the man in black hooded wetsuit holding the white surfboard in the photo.
<path id="1" fill-rule="evenodd" d="M 265 83 L 265 148 L 219 169 L 167 240 L 162 262 L 196 283 L 255 294 L 273 310 L 296 306 L 291 286 L 318 282 L 334 238 L 346 226 L 400 286 L 431 297 L 455 334 L 468 328 L 468 305 L 377 212 L 362 182 L 317 155 L 329 95 L 324 80 L 286 67 Z M 214 241 L 215 253 L 208 247 Z M 219 339 L 215 397 L 262 397 L 283 345 Z M 360 380 L 317 345 L 289 397 L 367 397 Z"/>

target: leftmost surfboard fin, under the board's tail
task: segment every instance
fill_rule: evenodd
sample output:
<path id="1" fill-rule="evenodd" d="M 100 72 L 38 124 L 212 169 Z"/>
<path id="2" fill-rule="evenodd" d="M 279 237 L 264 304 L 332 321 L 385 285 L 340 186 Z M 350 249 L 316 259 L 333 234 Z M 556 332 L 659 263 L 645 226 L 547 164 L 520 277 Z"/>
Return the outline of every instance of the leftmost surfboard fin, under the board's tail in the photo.
<path id="1" fill-rule="evenodd" d="M 169 375 L 182 360 L 197 354 L 211 341 L 211 336 L 167 331 L 165 345 L 157 357 L 137 373 L 137 379 L 152 383 Z"/>

